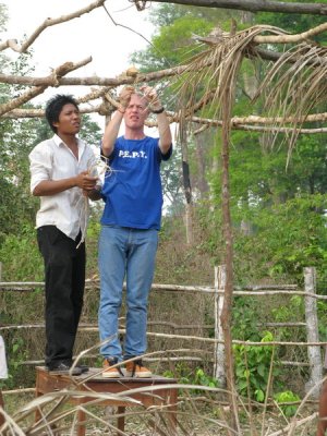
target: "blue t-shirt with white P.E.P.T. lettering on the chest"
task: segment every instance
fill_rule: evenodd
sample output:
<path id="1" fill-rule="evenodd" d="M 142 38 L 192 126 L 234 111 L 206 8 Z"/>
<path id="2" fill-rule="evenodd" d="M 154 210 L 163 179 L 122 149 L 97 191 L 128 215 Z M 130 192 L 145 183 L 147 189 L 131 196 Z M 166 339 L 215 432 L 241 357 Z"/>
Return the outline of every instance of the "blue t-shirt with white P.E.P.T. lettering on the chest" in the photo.
<path id="1" fill-rule="evenodd" d="M 109 157 L 101 191 L 106 202 L 101 225 L 134 229 L 160 229 L 162 189 L 161 160 L 168 160 L 159 148 L 159 138 L 117 138 Z"/>

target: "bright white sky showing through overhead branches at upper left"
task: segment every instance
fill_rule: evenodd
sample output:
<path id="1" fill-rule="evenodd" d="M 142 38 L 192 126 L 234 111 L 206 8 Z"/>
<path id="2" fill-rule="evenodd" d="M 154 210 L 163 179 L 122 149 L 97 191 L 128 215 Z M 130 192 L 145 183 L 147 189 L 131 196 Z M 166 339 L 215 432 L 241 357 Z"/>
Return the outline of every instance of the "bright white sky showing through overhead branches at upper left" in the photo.
<path id="1" fill-rule="evenodd" d="M 70 14 L 92 2 L 94 0 L 0 0 L 0 3 L 7 4 L 9 14 L 8 32 L 0 35 L 1 40 L 13 38 L 21 41 L 24 35 L 31 36 L 47 17 L 57 19 Z M 93 61 L 69 76 L 116 77 L 131 66 L 129 56 L 135 50 L 147 48 L 147 40 L 154 34 L 154 27 L 148 21 L 149 9 L 140 12 L 129 0 L 107 0 L 105 7 L 116 24 L 134 32 L 116 25 L 104 8 L 47 27 L 32 46 L 35 62 L 33 76 L 48 75 L 52 69 L 66 61 L 78 62 L 89 56 Z M 11 49 L 3 53 L 12 59 L 16 56 Z M 81 86 L 73 89 L 76 90 L 68 92 L 76 96 L 86 94 Z M 55 93 L 58 93 L 58 88 L 47 90 L 44 99 Z"/>

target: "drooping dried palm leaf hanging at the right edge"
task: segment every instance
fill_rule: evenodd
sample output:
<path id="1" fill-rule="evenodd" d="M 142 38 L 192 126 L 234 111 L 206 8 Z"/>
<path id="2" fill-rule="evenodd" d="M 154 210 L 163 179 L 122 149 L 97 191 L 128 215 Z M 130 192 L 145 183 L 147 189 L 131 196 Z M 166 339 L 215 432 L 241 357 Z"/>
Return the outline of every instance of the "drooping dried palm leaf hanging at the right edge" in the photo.
<path id="1" fill-rule="evenodd" d="M 327 48 L 312 43 L 301 43 L 287 50 L 272 65 L 262 83 L 258 95 L 269 89 L 265 108 L 272 119 L 292 120 L 275 123 L 272 146 L 282 126 L 291 126 L 284 138 L 289 143 L 288 160 L 295 145 L 300 128 L 314 108 L 327 99 Z M 323 108 L 324 110 L 324 108 Z"/>

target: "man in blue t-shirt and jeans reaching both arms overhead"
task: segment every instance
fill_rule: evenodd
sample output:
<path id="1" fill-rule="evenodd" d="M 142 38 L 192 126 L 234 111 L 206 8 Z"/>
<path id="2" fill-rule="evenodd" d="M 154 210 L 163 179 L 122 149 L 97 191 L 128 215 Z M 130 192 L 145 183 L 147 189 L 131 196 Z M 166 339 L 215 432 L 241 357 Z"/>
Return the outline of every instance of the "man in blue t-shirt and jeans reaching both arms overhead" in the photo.
<path id="1" fill-rule="evenodd" d="M 106 205 L 99 238 L 99 332 L 106 378 L 122 374 L 121 361 L 126 361 L 126 376 L 152 376 L 141 356 L 146 351 L 147 298 L 161 220 L 160 164 L 171 156 L 172 138 L 155 89 L 144 86 L 141 92 L 131 86 L 122 89 L 120 106 L 106 126 L 101 144 L 109 168 L 101 192 Z M 158 138 L 144 133 L 149 111 L 157 117 Z M 118 137 L 122 120 L 125 133 Z M 126 332 L 122 351 L 118 329 L 124 278 Z"/>

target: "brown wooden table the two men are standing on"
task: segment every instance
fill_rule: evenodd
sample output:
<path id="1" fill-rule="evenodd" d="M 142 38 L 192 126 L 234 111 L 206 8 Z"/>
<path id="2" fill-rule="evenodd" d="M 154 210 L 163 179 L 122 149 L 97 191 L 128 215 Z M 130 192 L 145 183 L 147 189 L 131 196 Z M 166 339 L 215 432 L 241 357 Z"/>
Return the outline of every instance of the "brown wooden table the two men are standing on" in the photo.
<path id="1" fill-rule="evenodd" d="M 105 392 L 113 393 L 114 399 L 106 399 L 101 401 L 101 405 L 114 405 L 118 408 L 118 429 L 124 431 L 124 416 L 121 415 L 125 411 L 125 407 L 138 405 L 135 402 L 128 401 L 125 398 L 119 398 L 119 395 L 133 389 L 133 392 L 128 393 L 128 397 L 140 401 L 145 408 L 152 405 L 168 405 L 170 424 L 175 427 L 177 423 L 177 400 L 178 389 L 173 386 L 177 384 L 174 378 L 166 378 L 157 375 L 153 375 L 149 378 L 137 378 L 137 377 L 120 377 L 120 378 L 104 378 L 99 373 L 99 368 L 89 368 L 87 373 L 81 376 L 73 377 L 74 382 L 78 384 L 74 386 L 72 378 L 69 375 L 52 375 L 49 374 L 48 370 L 44 366 L 36 366 L 36 396 L 43 396 L 44 393 L 59 391 L 62 389 L 75 389 L 76 391 L 93 391 L 93 392 Z M 138 388 L 148 388 L 147 391 L 140 391 Z M 152 390 L 153 389 L 153 390 Z M 137 391 L 138 390 L 138 391 Z M 95 400 L 94 397 L 80 396 L 70 399 L 74 403 L 86 403 Z M 40 414 L 36 414 L 36 420 L 40 419 Z M 83 410 L 77 412 L 77 436 L 85 435 L 85 412 Z M 120 434 L 120 432 L 118 432 Z"/>

